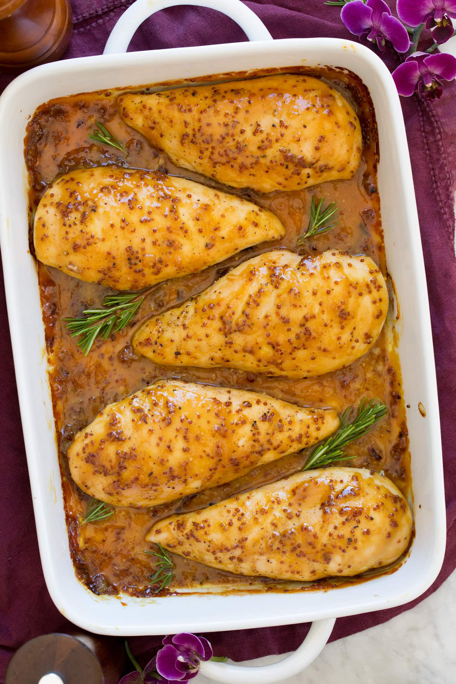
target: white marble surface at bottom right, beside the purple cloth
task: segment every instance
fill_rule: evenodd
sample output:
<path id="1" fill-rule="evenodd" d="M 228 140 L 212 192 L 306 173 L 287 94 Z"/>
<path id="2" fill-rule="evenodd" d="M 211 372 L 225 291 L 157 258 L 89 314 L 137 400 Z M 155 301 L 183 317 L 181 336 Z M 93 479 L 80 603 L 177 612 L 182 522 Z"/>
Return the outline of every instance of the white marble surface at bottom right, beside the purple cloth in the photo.
<path id="1" fill-rule="evenodd" d="M 245 665 L 279 660 L 268 656 Z M 199 674 L 195 684 L 213 684 Z M 282 684 L 455 684 L 456 571 L 428 599 L 377 627 L 327 644 Z"/>

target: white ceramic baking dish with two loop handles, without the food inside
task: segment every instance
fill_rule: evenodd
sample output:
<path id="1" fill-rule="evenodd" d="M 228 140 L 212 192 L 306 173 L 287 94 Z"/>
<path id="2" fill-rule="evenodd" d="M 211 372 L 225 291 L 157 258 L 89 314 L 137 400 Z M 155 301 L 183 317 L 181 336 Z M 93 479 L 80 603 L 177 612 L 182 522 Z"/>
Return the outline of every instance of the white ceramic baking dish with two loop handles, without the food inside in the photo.
<path id="1" fill-rule="evenodd" d="M 445 547 L 442 453 L 431 324 L 423 253 L 401 105 L 386 66 L 358 43 L 330 38 L 271 40 L 239 0 L 185 0 L 225 12 L 252 42 L 126 53 L 137 26 L 178 0 L 138 0 L 113 29 L 104 55 L 46 64 L 19 76 L 0 99 L 1 252 L 33 505 L 44 577 L 58 609 L 88 631 L 111 635 L 202 632 L 314 621 L 291 657 L 265 668 L 203 663 L 213 679 L 254 684 L 290 676 L 319 653 L 334 618 L 412 601 L 438 575 Z M 120 54 L 122 53 L 122 54 Z M 400 302 L 399 356 L 412 452 L 416 538 L 397 572 L 330 592 L 198 594 L 157 599 L 95 596 L 75 577 L 68 550 L 64 503 L 38 292 L 29 254 L 24 135 L 41 103 L 58 96 L 122 88 L 207 73 L 330 65 L 356 73 L 368 87 L 377 116 L 378 184 L 388 271 Z M 425 406 L 420 414 L 418 402 Z M 246 674 L 247 672 L 247 674 Z"/>

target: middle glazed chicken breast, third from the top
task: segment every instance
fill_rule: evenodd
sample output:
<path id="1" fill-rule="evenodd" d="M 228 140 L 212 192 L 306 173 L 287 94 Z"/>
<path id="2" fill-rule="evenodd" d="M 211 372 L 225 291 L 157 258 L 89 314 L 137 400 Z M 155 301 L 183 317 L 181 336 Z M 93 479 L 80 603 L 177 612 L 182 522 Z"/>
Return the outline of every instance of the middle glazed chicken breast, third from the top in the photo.
<path id="1" fill-rule="evenodd" d="M 148 319 L 133 346 L 163 366 L 319 376 L 368 352 L 387 311 L 385 280 L 370 257 L 274 250 Z"/>

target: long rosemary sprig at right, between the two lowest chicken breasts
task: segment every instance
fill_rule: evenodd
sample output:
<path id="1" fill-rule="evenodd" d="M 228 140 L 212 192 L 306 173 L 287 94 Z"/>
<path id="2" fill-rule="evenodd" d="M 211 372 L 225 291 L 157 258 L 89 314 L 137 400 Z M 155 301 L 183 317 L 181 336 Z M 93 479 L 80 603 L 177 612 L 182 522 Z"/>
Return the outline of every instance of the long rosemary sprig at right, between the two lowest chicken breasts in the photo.
<path id="1" fill-rule="evenodd" d="M 340 428 L 336 434 L 328 437 L 325 442 L 314 450 L 303 470 L 321 468 L 340 460 L 355 458 L 354 456 L 346 456 L 344 447 L 369 432 L 373 425 L 388 413 L 388 407 L 378 402 L 377 399 L 371 399 L 367 405 L 365 404 L 366 397 L 362 399 L 356 419 L 353 423 L 346 425 L 345 420 L 351 410 L 351 406 L 347 408 L 340 419 Z"/>

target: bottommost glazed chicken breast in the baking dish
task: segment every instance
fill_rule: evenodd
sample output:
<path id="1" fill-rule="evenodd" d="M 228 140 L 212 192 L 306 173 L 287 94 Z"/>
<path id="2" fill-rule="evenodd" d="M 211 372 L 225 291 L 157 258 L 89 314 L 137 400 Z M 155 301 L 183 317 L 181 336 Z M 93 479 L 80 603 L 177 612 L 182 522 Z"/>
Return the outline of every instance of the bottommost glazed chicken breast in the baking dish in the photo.
<path id="1" fill-rule="evenodd" d="M 170 516 L 146 540 L 237 575 L 309 581 L 394 562 L 412 524 L 407 501 L 387 477 L 333 467 Z"/>

